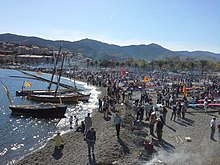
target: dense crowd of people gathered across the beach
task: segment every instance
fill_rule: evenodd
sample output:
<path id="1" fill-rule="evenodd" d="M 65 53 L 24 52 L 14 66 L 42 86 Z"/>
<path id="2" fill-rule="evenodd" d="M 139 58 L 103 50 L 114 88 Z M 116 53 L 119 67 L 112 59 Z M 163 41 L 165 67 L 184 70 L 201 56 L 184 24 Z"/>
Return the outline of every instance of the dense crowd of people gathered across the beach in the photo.
<path id="1" fill-rule="evenodd" d="M 71 75 L 69 76 L 71 77 Z M 146 76 L 149 77 L 150 82 L 143 81 Z M 141 123 L 143 120 L 147 121 L 150 134 L 161 141 L 169 110 L 171 111 L 171 121 L 182 120 L 185 119 L 189 103 L 195 103 L 199 99 L 205 101 L 220 99 L 220 81 L 217 77 L 209 77 L 201 81 L 198 76 L 179 74 L 127 73 L 122 75 L 120 72 L 81 71 L 76 78 L 84 80 L 88 84 L 106 88 L 107 95 L 98 98 L 98 111 L 103 113 L 104 118 L 108 118 L 109 112 L 115 113 L 114 124 L 117 138 L 120 136 L 120 127 L 123 123 L 120 112 L 117 111 L 117 104 L 125 103 L 125 100 L 132 102 L 133 124 Z M 198 90 L 195 90 L 196 84 L 199 86 Z M 184 91 L 186 87 L 194 90 L 190 89 L 186 94 Z M 139 98 L 134 97 L 136 91 L 140 93 Z M 204 106 L 205 110 L 207 110 L 206 108 Z M 70 124 L 72 127 L 72 123 Z M 216 118 L 212 119 L 210 126 L 210 139 L 214 139 L 217 127 L 220 142 L 220 124 L 216 124 Z M 91 151 L 94 152 L 96 141 L 96 131 L 92 125 L 90 114 L 77 127 L 77 130 L 84 134 L 90 155 Z M 154 135 L 155 132 L 156 135 Z"/>

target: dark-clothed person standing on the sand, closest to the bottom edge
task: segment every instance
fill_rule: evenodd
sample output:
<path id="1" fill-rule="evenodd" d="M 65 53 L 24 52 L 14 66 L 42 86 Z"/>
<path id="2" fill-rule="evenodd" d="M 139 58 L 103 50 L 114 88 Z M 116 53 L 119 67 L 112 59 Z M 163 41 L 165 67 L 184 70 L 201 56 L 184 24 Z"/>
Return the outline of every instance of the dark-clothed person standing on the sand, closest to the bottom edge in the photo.
<path id="1" fill-rule="evenodd" d="M 94 154 L 94 146 L 95 146 L 95 141 L 96 141 L 96 131 L 94 130 L 93 127 L 91 127 L 88 132 L 86 133 L 86 143 L 88 145 L 88 155 L 91 155 L 91 149 L 92 149 L 92 154 Z"/>

